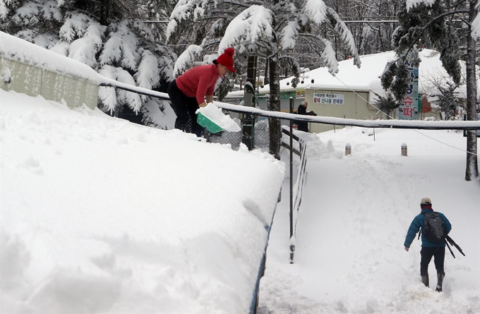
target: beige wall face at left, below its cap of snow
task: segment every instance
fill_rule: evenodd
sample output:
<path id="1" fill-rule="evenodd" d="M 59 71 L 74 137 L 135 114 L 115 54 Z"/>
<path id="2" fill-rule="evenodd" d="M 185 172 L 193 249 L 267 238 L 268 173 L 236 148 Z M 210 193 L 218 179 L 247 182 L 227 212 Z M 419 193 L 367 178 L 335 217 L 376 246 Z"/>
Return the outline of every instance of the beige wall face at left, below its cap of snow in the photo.
<path id="1" fill-rule="evenodd" d="M 42 68 L 23 64 L 0 56 L 0 88 L 14 90 L 26 95 L 41 95 L 44 99 L 66 103 L 70 108 L 83 104 L 97 107 L 98 86 L 82 78 L 73 78 L 45 71 Z"/>

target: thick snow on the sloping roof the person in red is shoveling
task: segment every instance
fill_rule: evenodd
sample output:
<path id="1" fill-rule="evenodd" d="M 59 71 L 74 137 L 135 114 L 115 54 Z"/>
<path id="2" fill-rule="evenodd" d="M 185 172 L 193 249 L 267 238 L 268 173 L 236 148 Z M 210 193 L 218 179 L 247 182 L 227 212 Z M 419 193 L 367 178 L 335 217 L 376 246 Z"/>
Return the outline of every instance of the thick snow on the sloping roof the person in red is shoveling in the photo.
<path id="1" fill-rule="evenodd" d="M 248 313 L 284 164 L 0 90 L 0 313 Z"/>

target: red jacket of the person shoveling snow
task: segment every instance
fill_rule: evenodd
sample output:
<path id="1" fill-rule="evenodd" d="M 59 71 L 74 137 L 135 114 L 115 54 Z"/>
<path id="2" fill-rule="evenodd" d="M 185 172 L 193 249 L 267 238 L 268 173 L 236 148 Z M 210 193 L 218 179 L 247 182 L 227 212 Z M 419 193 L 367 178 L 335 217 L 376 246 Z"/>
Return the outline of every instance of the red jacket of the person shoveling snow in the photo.
<path id="1" fill-rule="evenodd" d="M 186 97 L 196 97 L 198 104 L 202 104 L 205 95 L 213 95 L 219 77 L 216 64 L 196 66 L 176 78 L 176 86 Z"/>

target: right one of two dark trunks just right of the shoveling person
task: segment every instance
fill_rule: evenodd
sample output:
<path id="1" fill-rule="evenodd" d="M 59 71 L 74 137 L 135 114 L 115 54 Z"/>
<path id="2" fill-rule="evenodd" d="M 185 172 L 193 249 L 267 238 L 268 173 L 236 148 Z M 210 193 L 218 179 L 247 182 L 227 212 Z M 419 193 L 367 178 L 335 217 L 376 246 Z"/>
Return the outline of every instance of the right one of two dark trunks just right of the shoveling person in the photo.
<path id="1" fill-rule="evenodd" d="M 268 60 L 270 65 L 270 104 L 268 110 L 280 111 L 280 74 L 277 55 Z M 282 139 L 282 126 L 280 119 L 269 118 L 268 128 L 270 129 L 270 154 L 280 160 L 280 146 Z"/>

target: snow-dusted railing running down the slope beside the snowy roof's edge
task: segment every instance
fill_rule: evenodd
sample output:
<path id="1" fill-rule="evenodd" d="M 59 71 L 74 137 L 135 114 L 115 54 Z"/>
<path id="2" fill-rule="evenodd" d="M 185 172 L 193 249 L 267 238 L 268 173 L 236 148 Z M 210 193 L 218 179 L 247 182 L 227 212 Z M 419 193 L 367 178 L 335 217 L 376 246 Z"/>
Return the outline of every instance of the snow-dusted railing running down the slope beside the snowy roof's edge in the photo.
<path id="1" fill-rule="evenodd" d="M 290 264 L 294 263 L 296 217 L 301 205 L 301 195 L 306 181 L 306 142 L 291 133 L 292 128 L 282 126 L 282 146 L 290 151 Z M 286 136 L 283 136 L 286 135 Z M 295 140 L 295 143 L 294 143 Z M 293 183 L 293 154 L 300 157 L 300 164 Z"/>

